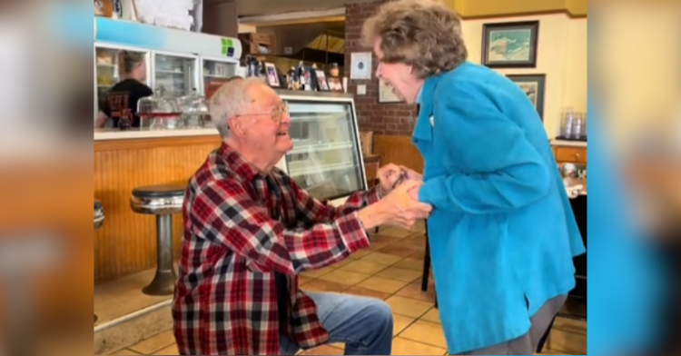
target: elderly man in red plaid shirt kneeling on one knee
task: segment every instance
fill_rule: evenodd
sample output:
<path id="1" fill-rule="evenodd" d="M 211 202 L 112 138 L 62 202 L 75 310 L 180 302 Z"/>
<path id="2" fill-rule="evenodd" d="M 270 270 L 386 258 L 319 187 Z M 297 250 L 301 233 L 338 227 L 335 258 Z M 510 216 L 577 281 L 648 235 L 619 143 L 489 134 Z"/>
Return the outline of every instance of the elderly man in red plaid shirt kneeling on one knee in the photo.
<path id="1" fill-rule="evenodd" d="M 270 87 L 252 79 L 224 84 L 212 96 L 211 114 L 223 143 L 185 196 L 173 299 L 180 352 L 294 354 L 344 342 L 349 355 L 390 355 L 385 302 L 303 293 L 296 276 L 369 247 L 372 227 L 410 226 L 428 216 L 430 206 L 409 195 L 419 183 L 391 191 L 398 177 L 387 174 L 389 166 L 379 187 L 351 195 L 340 208 L 324 205 L 275 168 L 292 148 L 291 118 Z"/>

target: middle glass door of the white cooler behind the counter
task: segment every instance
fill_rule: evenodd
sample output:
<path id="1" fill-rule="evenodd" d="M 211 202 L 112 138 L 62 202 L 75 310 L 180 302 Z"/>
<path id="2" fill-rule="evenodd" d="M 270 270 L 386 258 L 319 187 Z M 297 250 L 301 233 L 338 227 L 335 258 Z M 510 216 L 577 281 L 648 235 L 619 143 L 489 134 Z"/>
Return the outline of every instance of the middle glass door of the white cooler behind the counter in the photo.
<path id="1" fill-rule="evenodd" d="M 198 57 L 183 54 L 153 54 L 153 89 L 181 97 L 192 94 L 199 80 L 196 75 Z"/>

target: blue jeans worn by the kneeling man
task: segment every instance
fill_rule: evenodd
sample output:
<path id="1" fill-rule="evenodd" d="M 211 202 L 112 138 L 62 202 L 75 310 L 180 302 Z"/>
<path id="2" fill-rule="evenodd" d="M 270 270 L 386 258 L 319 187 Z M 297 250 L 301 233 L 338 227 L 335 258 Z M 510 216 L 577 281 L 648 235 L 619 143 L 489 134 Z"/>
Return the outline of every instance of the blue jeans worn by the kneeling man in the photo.
<path id="1" fill-rule="evenodd" d="M 392 311 L 385 302 L 337 293 L 305 292 L 317 306 L 321 326 L 329 343 L 345 343 L 346 355 L 390 355 Z M 300 348 L 281 336 L 281 355 L 294 355 Z"/>

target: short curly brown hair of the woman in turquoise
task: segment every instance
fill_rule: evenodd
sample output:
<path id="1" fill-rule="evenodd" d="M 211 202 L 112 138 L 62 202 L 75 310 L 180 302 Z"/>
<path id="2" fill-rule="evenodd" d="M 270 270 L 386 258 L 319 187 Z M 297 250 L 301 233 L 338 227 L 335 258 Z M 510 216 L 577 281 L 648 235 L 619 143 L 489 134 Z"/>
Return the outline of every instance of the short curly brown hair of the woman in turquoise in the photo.
<path id="1" fill-rule="evenodd" d="M 380 38 L 384 63 L 414 67 L 420 79 L 450 71 L 468 58 L 461 19 L 434 0 L 397 0 L 381 5 L 362 28 L 362 42 Z"/>

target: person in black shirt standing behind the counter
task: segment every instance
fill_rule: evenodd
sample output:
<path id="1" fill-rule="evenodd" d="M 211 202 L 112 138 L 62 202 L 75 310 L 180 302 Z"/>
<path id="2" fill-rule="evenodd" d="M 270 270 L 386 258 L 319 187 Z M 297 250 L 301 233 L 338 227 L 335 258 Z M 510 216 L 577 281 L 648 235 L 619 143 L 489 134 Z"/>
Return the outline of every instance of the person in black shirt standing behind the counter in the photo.
<path id="1" fill-rule="evenodd" d="M 106 101 L 101 105 L 94 123 L 95 128 L 104 127 L 109 118 L 114 120 L 115 128 L 120 128 L 122 118 L 129 120 L 130 127 L 140 127 L 137 102 L 143 97 L 153 95 L 152 88 L 144 84 L 146 81 L 144 58 L 142 53 L 121 51 L 119 54 L 121 81 L 106 95 Z M 128 120 L 124 120 L 123 123 Z"/>

